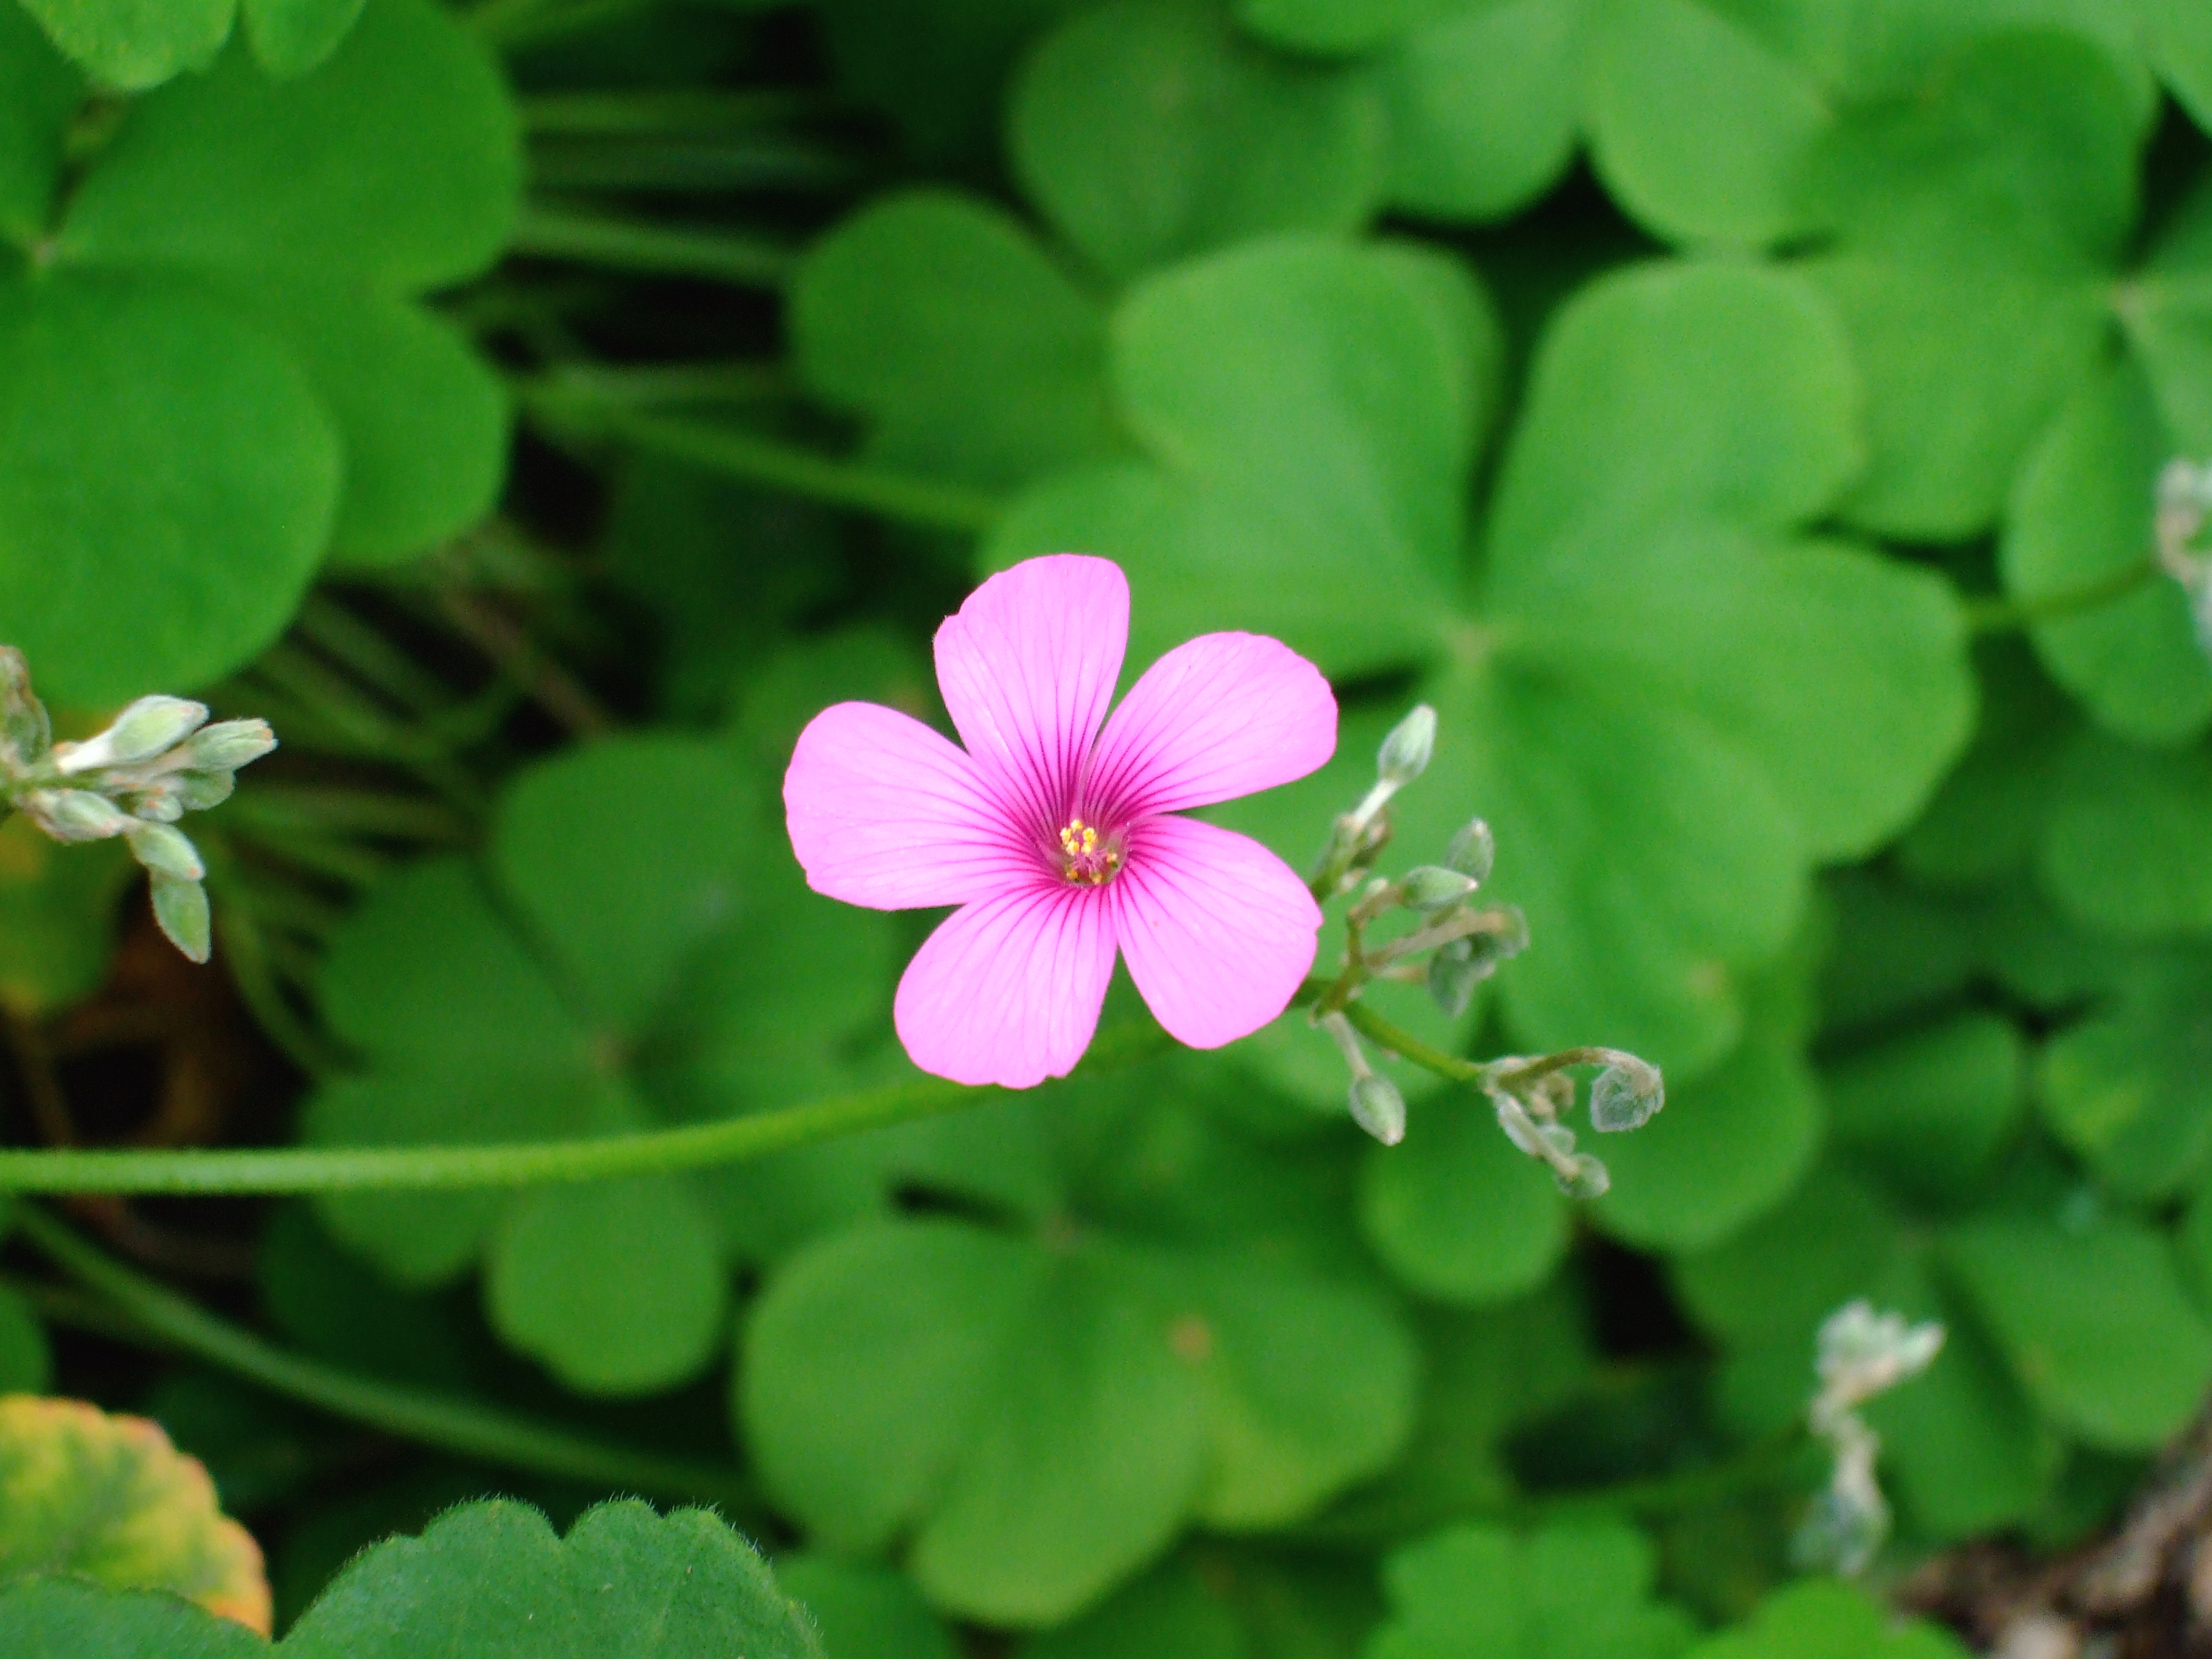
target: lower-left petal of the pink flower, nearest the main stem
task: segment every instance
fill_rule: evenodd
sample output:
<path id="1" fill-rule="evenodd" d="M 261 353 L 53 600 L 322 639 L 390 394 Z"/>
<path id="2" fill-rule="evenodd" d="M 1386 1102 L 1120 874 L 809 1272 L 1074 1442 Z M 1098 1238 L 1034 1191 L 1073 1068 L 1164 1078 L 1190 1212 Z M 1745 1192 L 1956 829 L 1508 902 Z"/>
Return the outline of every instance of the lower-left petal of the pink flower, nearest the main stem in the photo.
<path id="1" fill-rule="evenodd" d="M 914 1064 L 956 1084 L 1066 1077 L 1113 978 L 1104 891 L 1035 880 L 947 916 L 907 962 L 891 1009 Z"/>

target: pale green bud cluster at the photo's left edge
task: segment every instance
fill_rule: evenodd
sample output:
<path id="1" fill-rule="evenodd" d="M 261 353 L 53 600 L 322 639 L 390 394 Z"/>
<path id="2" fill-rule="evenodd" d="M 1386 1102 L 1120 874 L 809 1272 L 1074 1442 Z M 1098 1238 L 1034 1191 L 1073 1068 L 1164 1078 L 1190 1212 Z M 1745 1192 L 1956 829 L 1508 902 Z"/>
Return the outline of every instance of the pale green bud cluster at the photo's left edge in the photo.
<path id="1" fill-rule="evenodd" d="M 268 721 L 217 721 L 206 703 L 139 697 L 82 743 L 55 743 L 22 653 L 0 646 L 0 807 L 55 841 L 122 836 L 153 883 L 170 942 L 208 960 L 208 869 L 177 830 L 186 812 L 230 799 L 241 765 L 276 748 Z"/>

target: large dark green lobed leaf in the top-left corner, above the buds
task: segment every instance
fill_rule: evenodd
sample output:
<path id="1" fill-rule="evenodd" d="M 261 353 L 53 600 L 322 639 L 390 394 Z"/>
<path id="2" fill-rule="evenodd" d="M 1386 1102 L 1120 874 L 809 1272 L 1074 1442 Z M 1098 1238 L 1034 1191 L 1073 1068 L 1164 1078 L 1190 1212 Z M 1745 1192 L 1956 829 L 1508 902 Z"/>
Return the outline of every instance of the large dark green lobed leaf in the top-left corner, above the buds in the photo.
<path id="1" fill-rule="evenodd" d="M 246 661 L 327 553 L 411 555 L 489 509 L 504 398 L 407 294 L 495 257 L 520 144 L 425 0 L 374 0 L 296 82 L 234 44 L 133 100 L 55 221 L 82 95 L 9 13 L 0 223 L 29 257 L 0 254 L 0 420 L 35 442 L 0 476 L 0 633 L 97 706 Z"/>

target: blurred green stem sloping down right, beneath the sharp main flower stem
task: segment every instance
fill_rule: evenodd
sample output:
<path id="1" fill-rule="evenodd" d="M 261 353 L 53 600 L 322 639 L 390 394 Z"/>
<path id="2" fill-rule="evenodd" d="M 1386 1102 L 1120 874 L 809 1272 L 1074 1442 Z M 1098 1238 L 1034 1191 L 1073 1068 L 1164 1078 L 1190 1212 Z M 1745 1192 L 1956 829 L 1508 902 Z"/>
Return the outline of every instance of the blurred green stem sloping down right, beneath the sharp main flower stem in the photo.
<path id="1" fill-rule="evenodd" d="M 757 1502 L 752 1484 L 739 1469 L 717 1469 L 615 1447 L 476 1400 L 383 1383 L 290 1354 L 230 1321 L 217 1318 L 159 1281 L 124 1267 L 42 1210 L 27 1206 L 15 1212 L 13 1221 L 15 1230 L 46 1259 L 124 1314 L 148 1338 L 259 1383 L 272 1394 L 400 1440 L 416 1440 L 462 1458 L 529 1469 L 540 1475 L 661 1498 L 706 1498 L 745 1509 Z"/>

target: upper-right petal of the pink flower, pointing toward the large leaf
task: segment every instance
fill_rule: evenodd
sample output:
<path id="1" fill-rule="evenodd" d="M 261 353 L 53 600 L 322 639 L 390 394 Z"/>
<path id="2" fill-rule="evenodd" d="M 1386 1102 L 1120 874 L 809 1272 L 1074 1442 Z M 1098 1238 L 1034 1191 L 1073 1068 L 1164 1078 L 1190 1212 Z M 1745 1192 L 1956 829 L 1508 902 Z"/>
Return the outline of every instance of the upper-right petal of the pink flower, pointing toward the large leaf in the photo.
<path id="1" fill-rule="evenodd" d="M 1336 697 L 1305 657 L 1256 633 L 1208 633 L 1144 670 L 1106 721 L 1084 803 L 1183 812 L 1303 779 L 1336 752 Z"/>

